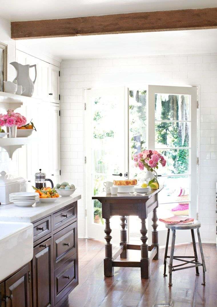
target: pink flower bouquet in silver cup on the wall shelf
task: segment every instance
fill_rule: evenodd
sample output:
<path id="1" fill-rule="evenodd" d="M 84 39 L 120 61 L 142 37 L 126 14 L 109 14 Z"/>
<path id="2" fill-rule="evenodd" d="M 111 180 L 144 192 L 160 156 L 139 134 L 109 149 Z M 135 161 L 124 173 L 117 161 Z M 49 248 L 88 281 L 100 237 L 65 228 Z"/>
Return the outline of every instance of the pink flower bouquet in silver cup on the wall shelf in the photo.
<path id="1" fill-rule="evenodd" d="M 21 127 L 26 125 L 26 118 L 20 113 L 14 112 L 14 110 L 7 110 L 7 114 L 0 114 L 0 126 L 6 127 Z"/>

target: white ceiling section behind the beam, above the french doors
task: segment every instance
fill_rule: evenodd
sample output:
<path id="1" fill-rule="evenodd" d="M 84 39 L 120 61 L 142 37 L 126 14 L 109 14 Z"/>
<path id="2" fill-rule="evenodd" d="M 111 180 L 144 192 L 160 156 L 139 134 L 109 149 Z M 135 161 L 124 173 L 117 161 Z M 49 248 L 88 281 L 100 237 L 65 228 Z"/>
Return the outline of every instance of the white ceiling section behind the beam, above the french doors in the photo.
<path id="1" fill-rule="evenodd" d="M 56 37 L 16 41 L 53 58 L 88 59 L 217 53 L 217 29 Z"/>

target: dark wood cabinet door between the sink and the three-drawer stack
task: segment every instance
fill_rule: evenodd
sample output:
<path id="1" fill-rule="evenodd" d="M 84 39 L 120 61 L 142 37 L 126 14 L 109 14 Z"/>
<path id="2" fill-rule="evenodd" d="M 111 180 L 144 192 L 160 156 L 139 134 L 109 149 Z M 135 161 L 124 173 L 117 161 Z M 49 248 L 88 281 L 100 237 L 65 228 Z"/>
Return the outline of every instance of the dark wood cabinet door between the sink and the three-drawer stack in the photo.
<path id="1" fill-rule="evenodd" d="M 33 255 L 33 306 L 54 305 L 53 299 L 53 239 L 45 240 L 34 248 Z"/>

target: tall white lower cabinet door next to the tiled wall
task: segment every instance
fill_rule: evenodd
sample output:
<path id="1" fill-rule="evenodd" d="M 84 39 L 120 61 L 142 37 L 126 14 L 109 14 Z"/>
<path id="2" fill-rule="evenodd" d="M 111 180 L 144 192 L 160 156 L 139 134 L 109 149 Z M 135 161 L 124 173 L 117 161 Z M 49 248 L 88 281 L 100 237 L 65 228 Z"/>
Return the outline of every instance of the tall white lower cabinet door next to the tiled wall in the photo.
<path id="1" fill-rule="evenodd" d="M 49 108 L 49 176 L 54 186 L 60 172 L 60 116 L 59 107 Z"/>

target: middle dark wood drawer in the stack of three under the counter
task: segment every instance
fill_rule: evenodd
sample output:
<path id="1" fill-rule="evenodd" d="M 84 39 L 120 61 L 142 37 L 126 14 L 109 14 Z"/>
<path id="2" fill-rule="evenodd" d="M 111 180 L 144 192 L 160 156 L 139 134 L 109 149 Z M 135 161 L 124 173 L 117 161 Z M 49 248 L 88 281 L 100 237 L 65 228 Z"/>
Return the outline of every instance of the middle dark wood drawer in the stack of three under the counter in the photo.
<path id="1" fill-rule="evenodd" d="M 56 269 L 77 252 L 77 222 L 57 232 L 53 235 L 53 239 L 54 267 Z"/>

